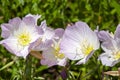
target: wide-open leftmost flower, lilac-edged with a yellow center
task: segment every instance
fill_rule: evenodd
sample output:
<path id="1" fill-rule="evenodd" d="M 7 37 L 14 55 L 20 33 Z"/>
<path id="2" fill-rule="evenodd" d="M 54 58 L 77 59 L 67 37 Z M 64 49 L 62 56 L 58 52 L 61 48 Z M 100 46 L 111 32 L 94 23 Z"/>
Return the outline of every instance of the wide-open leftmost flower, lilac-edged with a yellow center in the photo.
<path id="1" fill-rule="evenodd" d="M 26 58 L 31 50 L 31 43 L 41 36 L 40 29 L 37 28 L 39 18 L 40 15 L 28 14 L 22 20 L 17 17 L 2 24 L 1 36 L 4 40 L 0 44 L 16 56 Z"/>

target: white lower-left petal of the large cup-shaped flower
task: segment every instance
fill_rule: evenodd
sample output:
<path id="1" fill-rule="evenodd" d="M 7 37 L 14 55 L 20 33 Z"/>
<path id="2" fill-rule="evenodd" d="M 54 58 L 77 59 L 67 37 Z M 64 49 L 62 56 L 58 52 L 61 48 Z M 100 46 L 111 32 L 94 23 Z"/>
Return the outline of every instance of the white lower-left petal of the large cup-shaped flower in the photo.
<path id="1" fill-rule="evenodd" d="M 64 39 L 65 38 L 65 39 Z M 81 57 L 79 56 L 80 53 L 78 54 L 77 47 L 79 47 L 79 44 L 76 43 L 76 41 L 69 39 L 64 36 L 60 43 L 60 52 L 65 53 L 65 55 L 72 60 L 78 60 Z"/>

